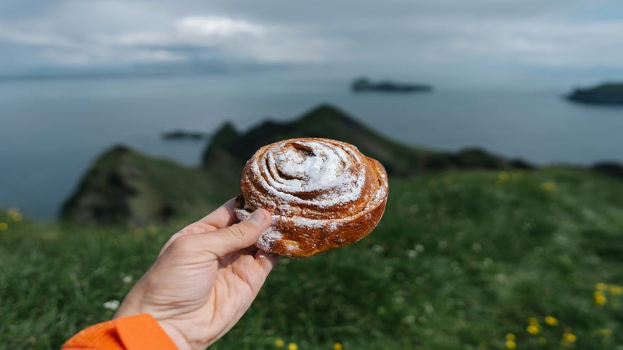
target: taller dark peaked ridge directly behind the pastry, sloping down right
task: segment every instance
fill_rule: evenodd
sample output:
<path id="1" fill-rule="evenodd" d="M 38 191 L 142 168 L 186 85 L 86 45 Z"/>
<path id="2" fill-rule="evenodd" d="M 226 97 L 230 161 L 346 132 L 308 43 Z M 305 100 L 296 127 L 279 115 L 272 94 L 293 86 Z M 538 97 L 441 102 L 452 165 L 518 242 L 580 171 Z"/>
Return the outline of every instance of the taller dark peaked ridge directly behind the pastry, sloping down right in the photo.
<path id="1" fill-rule="evenodd" d="M 308 111 L 296 121 L 265 121 L 246 133 L 225 123 L 214 134 L 203 156 L 203 167 L 219 171 L 226 167 L 242 170 L 247 159 L 263 145 L 287 138 L 332 138 L 351 143 L 364 155 L 378 159 L 390 175 L 409 176 L 419 171 L 443 169 L 530 169 L 521 160 L 507 161 L 485 150 L 440 152 L 403 145 L 376 133 L 343 111 L 327 104 Z"/>

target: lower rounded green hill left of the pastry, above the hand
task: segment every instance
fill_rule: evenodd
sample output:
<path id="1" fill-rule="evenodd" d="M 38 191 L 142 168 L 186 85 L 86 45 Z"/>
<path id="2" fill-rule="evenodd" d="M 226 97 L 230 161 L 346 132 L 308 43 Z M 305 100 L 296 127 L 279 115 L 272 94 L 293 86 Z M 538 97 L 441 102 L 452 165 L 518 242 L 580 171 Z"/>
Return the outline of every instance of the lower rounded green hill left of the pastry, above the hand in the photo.
<path id="1" fill-rule="evenodd" d="M 94 162 L 63 205 L 61 217 L 140 226 L 155 219 L 193 217 L 237 195 L 236 183 L 117 146 Z"/>

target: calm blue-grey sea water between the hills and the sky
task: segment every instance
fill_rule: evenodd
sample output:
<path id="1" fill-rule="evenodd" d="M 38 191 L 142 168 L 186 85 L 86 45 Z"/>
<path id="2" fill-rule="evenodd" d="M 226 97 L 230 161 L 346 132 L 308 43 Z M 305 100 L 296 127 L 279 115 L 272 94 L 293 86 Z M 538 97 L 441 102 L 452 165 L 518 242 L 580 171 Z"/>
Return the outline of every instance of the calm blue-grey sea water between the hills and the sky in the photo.
<path id="1" fill-rule="evenodd" d="M 0 207 L 51 219 L 95 158 L 123 143 L 195 166 L 206 142 L 173 129 L 241 131 L 334 104 L 403 143 L 483 147 L 536 164 L 623 162 L 623 107 L 586 106 L 555 90 L 353 94 L 344 80 L 271 74 L 0 80 Z"/>

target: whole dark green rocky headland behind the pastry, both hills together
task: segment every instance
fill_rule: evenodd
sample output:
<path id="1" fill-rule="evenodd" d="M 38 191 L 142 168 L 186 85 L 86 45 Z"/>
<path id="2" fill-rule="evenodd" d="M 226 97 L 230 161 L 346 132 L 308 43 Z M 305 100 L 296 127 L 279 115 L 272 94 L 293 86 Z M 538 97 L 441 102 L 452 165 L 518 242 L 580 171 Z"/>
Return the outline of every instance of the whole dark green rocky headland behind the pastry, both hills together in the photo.
<path id="1" fill-rule="evenodd" d="M 66 201 L 73 222 L 143 226 L 172 217 L 198 219 L 239 193 L 241 171 L 261 146 L 286 138 L 334 138 L 378 159 L 390 176 L 444 169 L 530 169 L 484 150 L 440 152 L 397 143 L 329 105 L 290 122 L 264 121 L 246 133 L 225 123 L 214 134 L 200 169 L 143 155 L 124 146 L 99 157 Z"/>

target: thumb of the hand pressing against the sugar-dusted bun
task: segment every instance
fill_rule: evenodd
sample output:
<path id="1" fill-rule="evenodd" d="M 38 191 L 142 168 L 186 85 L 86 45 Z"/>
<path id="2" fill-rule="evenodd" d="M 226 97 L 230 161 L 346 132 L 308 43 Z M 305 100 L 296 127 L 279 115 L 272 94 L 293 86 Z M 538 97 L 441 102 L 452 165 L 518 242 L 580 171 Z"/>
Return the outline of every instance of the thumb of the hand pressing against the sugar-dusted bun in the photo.
<path id="1" fill-rule="evenodd" d="M 272 224 L 272 216 L 265 209 L 258 209 L 238 224 L 224 229 L 200 234 L 202 247 L 222 258 L 224 255 L 253 246 L 262 233 Z"/>

